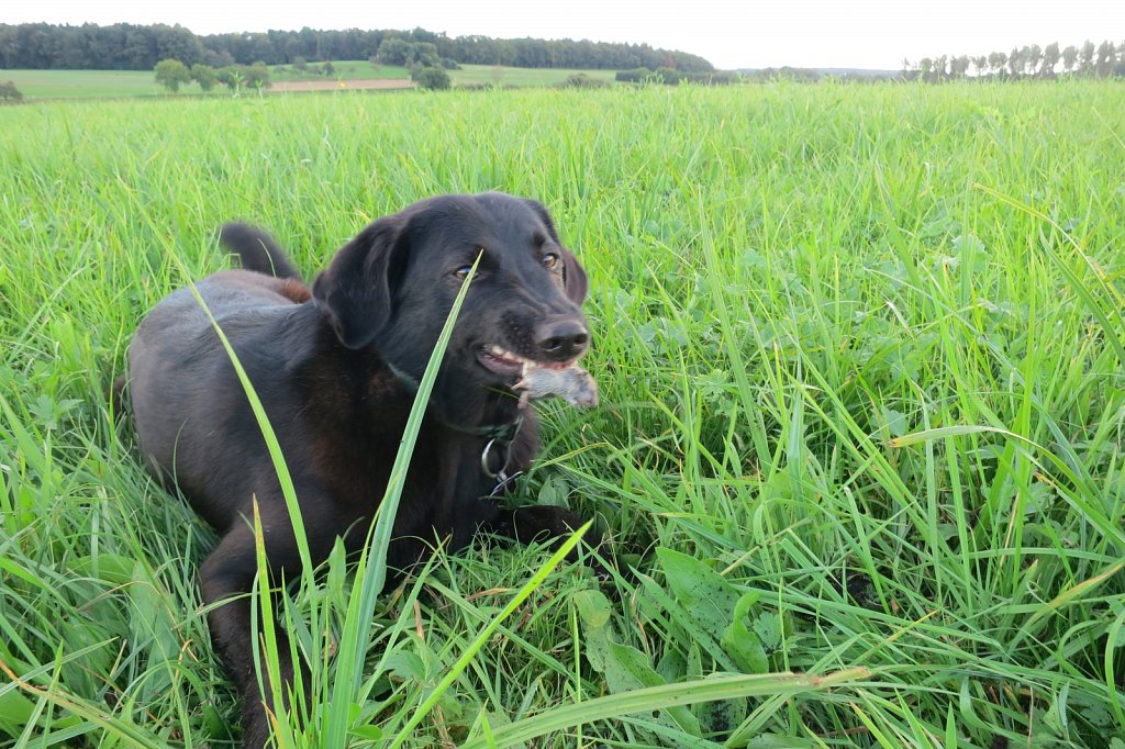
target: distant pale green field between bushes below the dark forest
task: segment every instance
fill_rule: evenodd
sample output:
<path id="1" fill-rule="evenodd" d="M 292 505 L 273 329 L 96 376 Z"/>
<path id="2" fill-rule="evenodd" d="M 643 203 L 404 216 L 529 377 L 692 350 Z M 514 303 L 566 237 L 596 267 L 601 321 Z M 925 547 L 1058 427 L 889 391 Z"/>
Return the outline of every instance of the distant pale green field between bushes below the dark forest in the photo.
<path id="1" fill-rule="evenodd" d="M 395 65 L 372 65 L 367 61 L 334 61 L 333 74 L 323 75 L 300 72 L 289 65 L 271 71 L 271 81 L 282 90 L 290 81 L 315 81 L 326 89 L 341 88 L 342 81 L 402 81 L 410 79 L 405 67 Z M 594 70 L 547 70 L 528 67 L 504 67 L 502 65 L 462 65 L 461 70 L 449 71 L 454 87 L 458 85 L 503 85 L 508 88 L 543 87 L 561 83 L 569 75 L 586 73 L 606 82 L 613 81 L 613 71 Z M 98 99 L 128 97 L 187 97 L 200 96 L 195 83 L 184 85 L 179 93 L 170 94 L 156 83 L 152 71 L 111 70 L 3 70 L 0 82 L 12 81 L 27 99 Z M 359 88 L 359 87 L 349 87 Z M 230 98 L 231 91 L 217 85 L 210 96 Z"/>

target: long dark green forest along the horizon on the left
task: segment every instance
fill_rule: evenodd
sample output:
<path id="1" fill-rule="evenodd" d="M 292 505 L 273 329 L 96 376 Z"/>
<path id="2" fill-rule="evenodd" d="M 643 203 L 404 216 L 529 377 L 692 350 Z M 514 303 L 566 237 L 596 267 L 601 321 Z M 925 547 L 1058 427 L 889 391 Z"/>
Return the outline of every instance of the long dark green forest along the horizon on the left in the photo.
<path id="1" fill-rule="evenodd" d="M 345 29 L 213 34 L 198 36 L 182 26 L 55 26 L 0 24 L 0 69 L 152 70 L 161 60 L 212 67 L 291 64 L 305 61 L 368 60 L 387 39 L 433 45 L 441 58 L 478 65 L 624 70 L 667 67 L 709 72 L 703 57 L 647 44 L 573 39 L 494 39 L 411 31 Z"/>

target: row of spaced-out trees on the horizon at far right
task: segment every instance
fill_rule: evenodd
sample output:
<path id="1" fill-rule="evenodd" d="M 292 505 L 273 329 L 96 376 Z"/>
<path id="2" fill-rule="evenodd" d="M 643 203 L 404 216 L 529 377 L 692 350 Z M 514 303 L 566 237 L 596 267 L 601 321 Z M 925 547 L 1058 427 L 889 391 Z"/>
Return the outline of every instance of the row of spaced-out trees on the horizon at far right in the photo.
<path id="1" fill-rule="evenodd" d="M 1125 76 L 1125 43 L 1087 40 L 1081 46 L 1060 49 L 1053 42 L 1012 47 L 1011 52 L 987 55 L 942 55 L 904 61 L 907 78 L 936 83 L 958 78 L 1053 79 L 1059 75 L 1083 78 Z"/>

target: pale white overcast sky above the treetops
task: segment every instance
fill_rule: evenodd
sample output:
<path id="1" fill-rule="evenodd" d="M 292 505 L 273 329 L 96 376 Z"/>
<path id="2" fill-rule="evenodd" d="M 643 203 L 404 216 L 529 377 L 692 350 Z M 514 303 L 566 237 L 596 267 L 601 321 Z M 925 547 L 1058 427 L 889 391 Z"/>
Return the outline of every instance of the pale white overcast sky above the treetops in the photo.
<path id="1" fill-rule="evenodd" d="M 0 22 L 180 24 L 196 34 L 414 28 L 648 43 L 718 67 L 898 69 L 903 57 L 1125 39 L 1125 0 L 6 0 Z"/>

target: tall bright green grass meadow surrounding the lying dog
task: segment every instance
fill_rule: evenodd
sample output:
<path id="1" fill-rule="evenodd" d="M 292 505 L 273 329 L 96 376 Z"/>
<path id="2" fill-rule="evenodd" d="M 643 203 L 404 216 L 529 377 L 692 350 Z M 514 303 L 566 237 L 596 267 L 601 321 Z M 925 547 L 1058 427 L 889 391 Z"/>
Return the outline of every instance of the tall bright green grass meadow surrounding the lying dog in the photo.
<path id="1" fill-rule="evenodd" d="M 587 269 L 602 391 L 518 498 L 618 572 L 482 540 L 364 619 L 333 558 L 273 592 L 286 746 L 1125 748 L 1120 85 L 54 102 L 0 159 L 0 747 L 236 740 L 214 534 L 106 398 L 218 224 L 313 273 L 500 189 Z"/>

